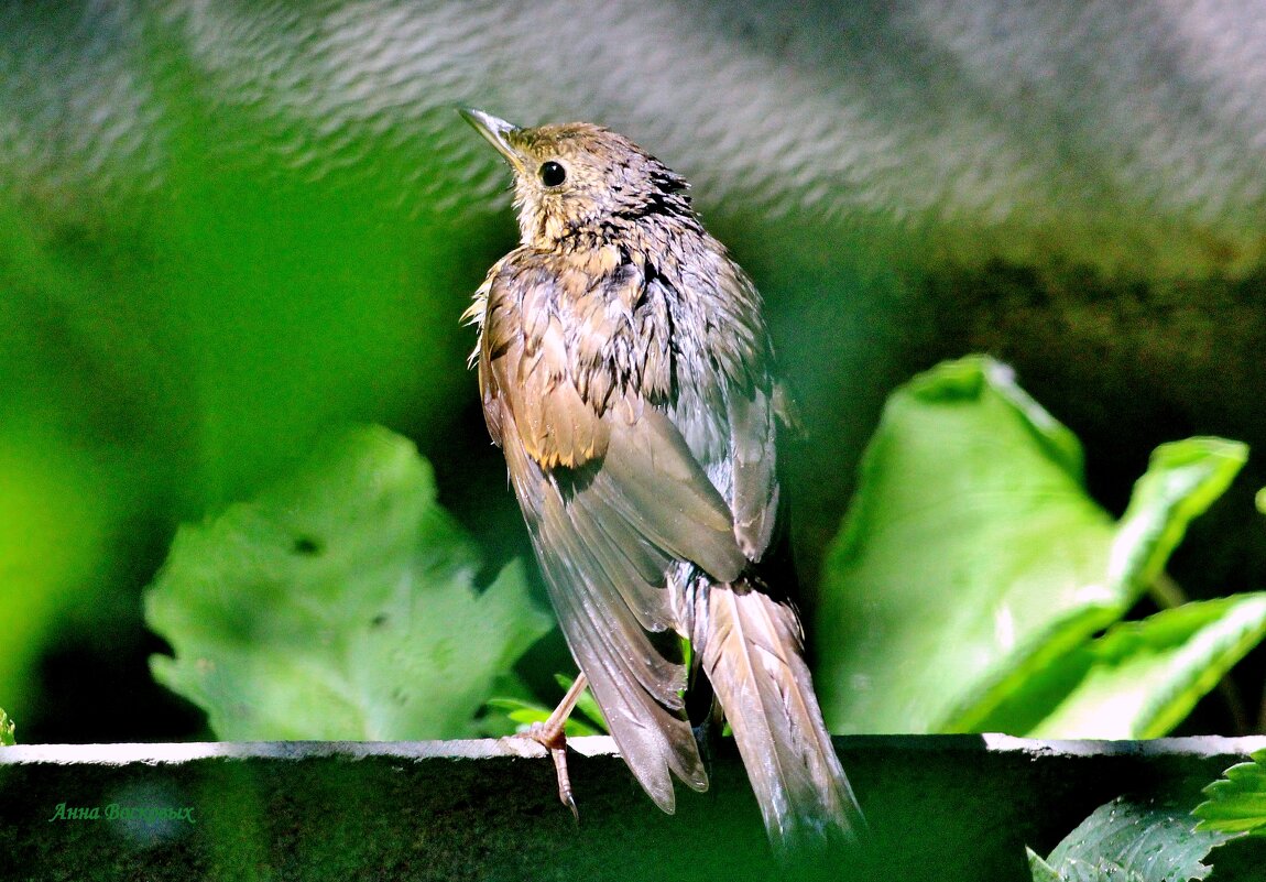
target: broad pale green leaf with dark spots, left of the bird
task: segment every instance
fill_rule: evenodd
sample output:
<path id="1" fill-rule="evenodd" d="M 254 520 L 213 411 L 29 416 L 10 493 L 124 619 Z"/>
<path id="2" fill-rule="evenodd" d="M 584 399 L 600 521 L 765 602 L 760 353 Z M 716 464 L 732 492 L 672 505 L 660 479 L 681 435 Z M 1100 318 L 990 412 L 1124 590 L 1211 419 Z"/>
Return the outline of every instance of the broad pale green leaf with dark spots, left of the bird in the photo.
<path id="1" fill-rule="evenodd" d="M 227 740 L 473 735 L 498 674 L 551 626 L 518 562 L 482 592 L 477 569 L 413 445 L 351 430 L 180 530 L 146 595 L 175 649 L 152 669 Z"/>

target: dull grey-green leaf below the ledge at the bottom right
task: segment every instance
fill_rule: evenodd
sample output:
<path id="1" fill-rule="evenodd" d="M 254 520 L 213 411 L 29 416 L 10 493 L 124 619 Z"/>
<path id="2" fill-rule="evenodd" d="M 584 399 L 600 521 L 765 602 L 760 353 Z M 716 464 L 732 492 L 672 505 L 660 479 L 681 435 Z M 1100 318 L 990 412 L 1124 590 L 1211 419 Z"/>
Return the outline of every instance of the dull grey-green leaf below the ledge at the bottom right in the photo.
<path id="1" fill-rule="evenodd" d="M 1222 834 L 1194 830 L 1184 810 L 1114 800 L 1095 809 L 1046 863 L 1066 882 L 1186 882 L 1209 874 L 1204 858 L 1224 842 Z"/>

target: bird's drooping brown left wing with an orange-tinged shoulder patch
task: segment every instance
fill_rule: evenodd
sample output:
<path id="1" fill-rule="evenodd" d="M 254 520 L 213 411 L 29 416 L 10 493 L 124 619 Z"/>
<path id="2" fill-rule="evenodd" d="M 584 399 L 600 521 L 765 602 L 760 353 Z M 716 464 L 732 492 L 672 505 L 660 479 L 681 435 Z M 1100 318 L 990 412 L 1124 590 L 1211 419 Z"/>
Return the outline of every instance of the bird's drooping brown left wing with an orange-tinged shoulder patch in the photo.
<path id="1" fill-rule="evenodd" d="M 480 352 L 489 424 L 567 643 L 620 753 L 671 811 L 668 769 L 696 790 L 706 774 L 682 711 L 666 573 L 691 561 L 729 581 L 747 559 L 729 507 L 672 421 L 623 392 L 601 411 L 586 401 L 558 319 L 524 315 L 523 300 L 498 287 Z"/>

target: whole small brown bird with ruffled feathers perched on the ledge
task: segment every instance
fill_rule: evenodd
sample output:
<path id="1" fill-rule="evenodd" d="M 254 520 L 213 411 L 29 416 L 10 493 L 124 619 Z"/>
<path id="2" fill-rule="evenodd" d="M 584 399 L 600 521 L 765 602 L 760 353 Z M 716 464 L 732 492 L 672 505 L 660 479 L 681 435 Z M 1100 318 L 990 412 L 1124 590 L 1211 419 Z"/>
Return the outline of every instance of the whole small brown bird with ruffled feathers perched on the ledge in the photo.
<path id="1" fill-rule="evenodd" d="M 705 790 L 687 640 L 691 692 L 714 720 L 719 700 L 775 848 L 853 839 L 800 620 L 771 583 L 785 407 L 756 287 L 685 180 L 623 135 L 461 113 L 514 170 L 522 232 L 466 311 L 471 361 L 582 673 L 542 740 L 561 757 L 587 678 L 661 809 L 670 771 Z M 565 766 L 560 785 L 571 802 Z"/>

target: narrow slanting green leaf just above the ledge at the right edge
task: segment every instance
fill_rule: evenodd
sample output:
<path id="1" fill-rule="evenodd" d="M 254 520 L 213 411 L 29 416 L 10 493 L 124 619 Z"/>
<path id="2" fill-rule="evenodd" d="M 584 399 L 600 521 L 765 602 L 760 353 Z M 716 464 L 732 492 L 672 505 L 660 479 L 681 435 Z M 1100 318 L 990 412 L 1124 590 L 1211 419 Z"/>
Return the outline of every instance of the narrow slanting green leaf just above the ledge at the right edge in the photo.
<path id="1" fill-rule="evenodd" d="M 1114 625 L 1034 673 L 981 728 L 1031 738 L 1160 738 L 1266 637 L 1266 593 Z"/>

